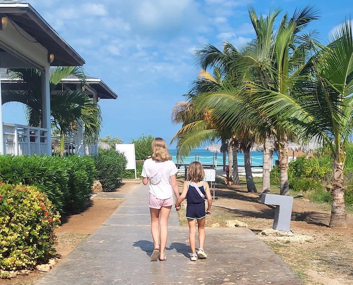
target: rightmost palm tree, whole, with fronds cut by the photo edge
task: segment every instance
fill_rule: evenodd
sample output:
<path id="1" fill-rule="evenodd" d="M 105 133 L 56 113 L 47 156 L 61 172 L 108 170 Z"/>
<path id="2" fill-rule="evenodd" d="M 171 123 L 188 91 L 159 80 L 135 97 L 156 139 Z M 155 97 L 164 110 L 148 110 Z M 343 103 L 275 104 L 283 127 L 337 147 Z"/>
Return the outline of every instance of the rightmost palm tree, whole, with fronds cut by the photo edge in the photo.
<path id="1" fill-rule="evenodd" d="M 312 73 L 295 85 L 296 92 L 267 90 L 272 104 L 268 113 L 284 113 L 300 127 L 302 137 L 325 141 L 333 158 L 333 178 L 327 188 L 332 191 L 330 227 L 347 228 L 344 204 L 344 145 L 353 126 L 353 30 L 346 20 L 334 32 L 333 41 L 314 55 L 306 68 Z M 273 104 L 276 102 L 276 104 Z"/>

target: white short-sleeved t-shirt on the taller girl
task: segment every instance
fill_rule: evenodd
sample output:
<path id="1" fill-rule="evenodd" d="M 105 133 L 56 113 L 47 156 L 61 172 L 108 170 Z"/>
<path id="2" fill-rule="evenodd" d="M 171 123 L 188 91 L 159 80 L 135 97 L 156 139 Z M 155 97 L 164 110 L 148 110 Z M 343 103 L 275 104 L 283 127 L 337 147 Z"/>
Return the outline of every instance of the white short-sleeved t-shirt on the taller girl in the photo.
<path id="1" fill-rule="evenodd" d="M 151 158 L 147 159 L 142 168 L 142 177 L 151 177 L 157 171 L 161 172 L 161 180 L 158 184 L 153 185 L 149 183 L 150 193 L 157 199 L 169 199 L 173 196 L 172 187 L 170 184 L 170 176 L 178 173 L 178 168 L 171 160 L 159 162 Z"/>

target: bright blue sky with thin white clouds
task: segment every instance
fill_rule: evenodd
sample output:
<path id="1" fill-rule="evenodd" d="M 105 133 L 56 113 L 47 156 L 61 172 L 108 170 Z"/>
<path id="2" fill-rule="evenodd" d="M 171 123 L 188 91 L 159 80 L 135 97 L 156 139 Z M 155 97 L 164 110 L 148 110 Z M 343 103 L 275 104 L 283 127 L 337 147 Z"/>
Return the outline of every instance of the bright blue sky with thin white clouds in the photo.
<path id="1" fill-rule="evenodd" d="M 197 77 L 193 52 L 206 43 L 221 48 L 254 36 L 248 7 L 258 14 L 313 4 L 321 19 L 310 29 L 328 42 L 330 32 L 349 13 L 353 2 L 303 0 L 29 0 L 39 14 L 85 59 L 86 72 L 101 78 L 118 95 L 99 102 L 101 135 L 125 143 L 142 133 L 165 138 L 179 129 L 170 121 L 175 103 Z M 25 123 L 23 107 L 3 106 L 3 120 Z"/>

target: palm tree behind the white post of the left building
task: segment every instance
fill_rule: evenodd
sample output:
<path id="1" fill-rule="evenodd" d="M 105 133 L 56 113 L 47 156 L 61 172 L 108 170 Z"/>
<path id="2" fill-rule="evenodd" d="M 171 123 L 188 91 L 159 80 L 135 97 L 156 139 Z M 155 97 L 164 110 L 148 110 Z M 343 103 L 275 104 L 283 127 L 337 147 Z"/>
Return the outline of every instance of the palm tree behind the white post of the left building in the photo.
<path id="1" fill-rule="evenodd" d="M 41 76 L 35 69 L 11 69 L 12 77 L 20 79 L 20 91 L 4 92 L 3 104 L 20 102 L 26 105 L 28 124 L 41 125 Z M 84 135 L 88 143 L 98 137 L 102 124 L 98 104 L 82 90 L 66 90 L 61 81 L 69 76 L 79 78 L 86 84 L 86 76 L 81 67 L 56 67 L 50 74 L 50 110 L 52 126 L 61 135 L 61 153 L 64 153 L 65 135 L 75 132 L 78 124 L 84 127 Z"/>

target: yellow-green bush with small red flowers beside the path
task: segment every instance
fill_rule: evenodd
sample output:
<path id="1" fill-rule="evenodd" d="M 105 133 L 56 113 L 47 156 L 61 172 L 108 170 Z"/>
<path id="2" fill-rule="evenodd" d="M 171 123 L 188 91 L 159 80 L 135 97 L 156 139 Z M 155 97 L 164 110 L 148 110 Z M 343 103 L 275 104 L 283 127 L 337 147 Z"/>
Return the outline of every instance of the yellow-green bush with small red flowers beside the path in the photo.
<path id="1" fill-rule="evenodd" d="M 1 184 L 0 269 L 32 269 L 47 263 L 55 255 L 53 230 L 59 218 L 53 204 L 36 187 Z"/>

